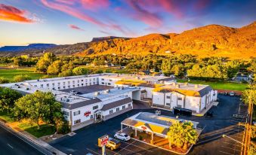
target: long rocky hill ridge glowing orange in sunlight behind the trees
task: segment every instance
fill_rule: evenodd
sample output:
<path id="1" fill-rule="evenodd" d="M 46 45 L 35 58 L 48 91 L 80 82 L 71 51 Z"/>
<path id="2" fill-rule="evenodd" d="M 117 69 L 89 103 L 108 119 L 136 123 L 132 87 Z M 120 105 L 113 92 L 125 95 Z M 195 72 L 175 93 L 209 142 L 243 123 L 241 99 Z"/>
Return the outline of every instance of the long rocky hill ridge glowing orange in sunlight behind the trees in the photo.
<path id="1" fill-rule="evenodd" d="M 51 47 L 45 52 L 57 55 L 94 56 L 98 54 L 184 54 L 199 57 L 224 56 L 230 59 L 249 59 L 256 57 L 256 22 L 241 28 L 220 25 L 202 26 L 180 34 L 149 34 L 137 38 L 105 37 L 103 40 L 66 44 Z M 42 55 L 42 50 L 24 50 L 17 55 L 30 53 Z"/>

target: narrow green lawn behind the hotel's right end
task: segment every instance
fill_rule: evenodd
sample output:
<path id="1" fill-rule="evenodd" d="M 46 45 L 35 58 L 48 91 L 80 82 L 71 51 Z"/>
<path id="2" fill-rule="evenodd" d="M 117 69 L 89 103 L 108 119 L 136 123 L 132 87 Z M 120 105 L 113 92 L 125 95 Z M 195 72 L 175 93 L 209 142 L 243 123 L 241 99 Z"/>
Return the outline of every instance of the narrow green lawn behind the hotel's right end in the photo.
<path id="1" fill-rule="evenodd" d="M 186 80 L 177 80 L 177 82 L 188 82 Z M 248 84 L 236 84 L 236 83 L 229 83 L 229 82 L 221 82 L 221 81 L 196 81 L 196 80 L 190 80 L 188 82 L 190 84 L 206 84 L 210 85 L 213 89 L 216 90 L 238 90 L 243 91 L 248 87 Z"/>

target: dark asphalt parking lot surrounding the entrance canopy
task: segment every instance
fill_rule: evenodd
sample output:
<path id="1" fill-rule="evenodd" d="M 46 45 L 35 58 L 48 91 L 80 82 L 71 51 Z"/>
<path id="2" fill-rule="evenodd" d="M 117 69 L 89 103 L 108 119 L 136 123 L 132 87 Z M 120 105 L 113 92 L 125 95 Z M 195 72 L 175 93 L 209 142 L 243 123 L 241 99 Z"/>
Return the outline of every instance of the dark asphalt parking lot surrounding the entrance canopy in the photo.
<path id="1" fill-rule="evenodd" d="M 192 148 L 189 154 L 239 154 L 242 144 L 223 138 L 222 135 L 228 135 L 238 141 L 242 141 L 244 128 L 238 126 L 237 123 L 244 122 L 233 117 L 233 114 L 246 113 L 247 107 L 239 105 L 239 97 L 236 96 L 218 96 L 219 104 L 217 107 L 212 107 L 210 111 L 214 112 L 213 117 L 185 117 L 180 118 L 193 120 L 200 123 L 201 128 L 204 128 L 199 136 L 199 141 Z M 240 108 L 239 108 L 240 107 Z M 101 154 L 101 149 L 97 147 L 97 138 L 101 135 L 113 136 L 121 129 L 121 121 L 131 115 L 137 114 L 140 111 L 155 112 L 156 109 L 136 109 L 121 114 L 113 119 L 103 121 L 101 123 L 92 124 L 85 128 L 79 129 L 76 135 L 65 135 L 59 138 L 51 145 L 68 154 Z M 163 115 L 174 117 L 170 111 L 162 111 Z M 106 149 L 107 154 L 172 154 L 167 150 L 162 150 L 158 147 L 153 147 L 149 144 L 144 144 L 140 141 L 122 141 L 121 147 L 118 150 Z"/>

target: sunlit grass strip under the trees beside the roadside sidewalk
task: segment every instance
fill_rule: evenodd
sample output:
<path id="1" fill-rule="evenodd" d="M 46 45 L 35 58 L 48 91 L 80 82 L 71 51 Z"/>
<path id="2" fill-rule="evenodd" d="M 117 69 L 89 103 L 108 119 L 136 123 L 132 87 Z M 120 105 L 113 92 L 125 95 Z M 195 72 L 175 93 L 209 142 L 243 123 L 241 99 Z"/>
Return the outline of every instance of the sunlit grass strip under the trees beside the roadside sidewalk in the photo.
<path id="1" fill-rule="evenodd" d="M 18 127 L 21 130 L 29 132 L 31 135 L 39 138 L 45 135 L 52 135 L 55 132 L 55 127 L 52 125 L 42 124 L 41 129 L 37 129 L 35 123 L 29 123 L 28 121 L 15 122 L 7 113 L 0 111 L 0 119 L 5 120 L 8 126 Z"/>

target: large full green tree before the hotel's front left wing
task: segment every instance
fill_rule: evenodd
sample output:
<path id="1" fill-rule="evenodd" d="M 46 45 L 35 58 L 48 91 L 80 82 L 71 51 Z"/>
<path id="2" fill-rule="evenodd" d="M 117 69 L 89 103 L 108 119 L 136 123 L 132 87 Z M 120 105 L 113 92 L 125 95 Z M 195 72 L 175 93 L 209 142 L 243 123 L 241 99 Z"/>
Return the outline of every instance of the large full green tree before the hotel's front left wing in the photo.
<path id="1" fill-rule="evenodd" d="M 61 104 L 50 92 L 37 91 L 27 94 L 18 99 L 14 105 L 14 118 L 16 120 L 29 119 L 37 124 L 38 129 L 40 129 L 40 120 L 45 123 L 54 123 L 54 116 L 57 113 L 61 113 Z"/>

